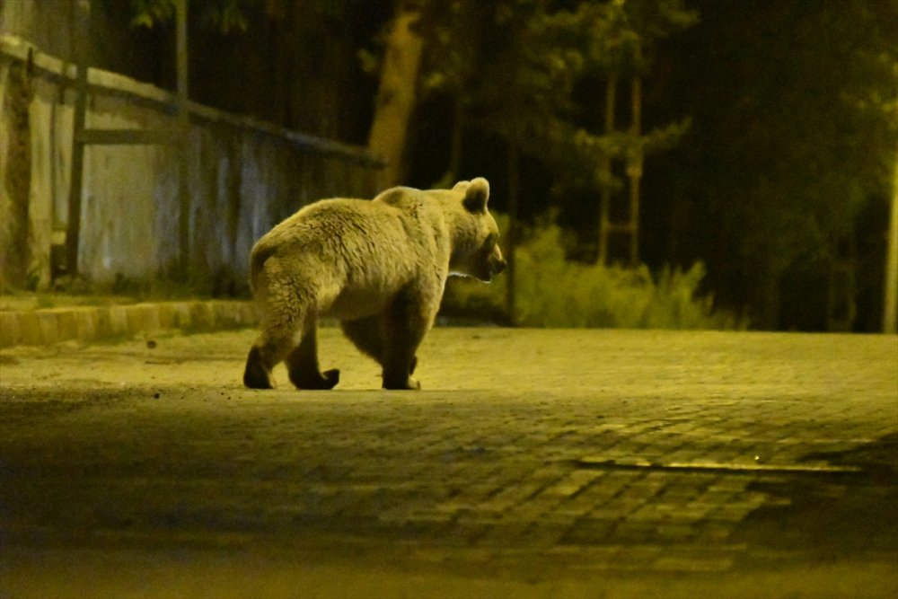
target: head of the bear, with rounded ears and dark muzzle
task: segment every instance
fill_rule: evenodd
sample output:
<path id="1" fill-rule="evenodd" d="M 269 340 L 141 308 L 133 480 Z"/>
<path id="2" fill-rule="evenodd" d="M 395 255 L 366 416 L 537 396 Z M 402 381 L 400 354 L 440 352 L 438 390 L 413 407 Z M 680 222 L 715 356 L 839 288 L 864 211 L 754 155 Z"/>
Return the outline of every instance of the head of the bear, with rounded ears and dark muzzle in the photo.
<path id="1" fill-rule="evenodd" d="M 459 181 L 451 192 L 448 207 L 452 229 L 450 274 L 488 282 L 505 270 L 506 260 L 499 250 L 499 228 L 489 214 L 489 182 L 482 177 Z"/>

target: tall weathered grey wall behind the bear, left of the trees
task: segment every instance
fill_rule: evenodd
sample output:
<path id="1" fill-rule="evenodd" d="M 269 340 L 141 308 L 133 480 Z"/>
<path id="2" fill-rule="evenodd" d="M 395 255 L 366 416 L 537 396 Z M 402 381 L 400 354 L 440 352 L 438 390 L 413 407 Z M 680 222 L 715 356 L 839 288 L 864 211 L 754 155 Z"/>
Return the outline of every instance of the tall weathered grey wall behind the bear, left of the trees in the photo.
<path id="1" fill-rule="evenodd" d="M 21 37 L 0 35 L 4 286 L 49 286 L 52 248 L 65 242 L 74 80 L 70 63 Z M 88 83 L 88 128 L 175 125 L 169 92 L 98 69 L 89 71 Z M 363 149 L 193 105 L 191 279 L 210 290 L 240 291 L 262 233 L 314 199 L 370 197 L 377 170 Z M 78 253 L 84 277 L 108 284 L 165 276 L 178 258 L 179 215 L 172 145 L 86 146 Z"/>

